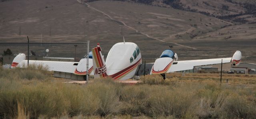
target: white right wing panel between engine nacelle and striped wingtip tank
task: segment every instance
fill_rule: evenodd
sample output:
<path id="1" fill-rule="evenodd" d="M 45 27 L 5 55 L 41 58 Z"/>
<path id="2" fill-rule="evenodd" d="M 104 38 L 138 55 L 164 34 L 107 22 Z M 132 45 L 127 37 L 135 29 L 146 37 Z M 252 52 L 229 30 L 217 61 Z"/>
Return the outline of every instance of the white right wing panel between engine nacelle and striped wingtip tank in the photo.
<path id="1" fill-rule="evenodd" d="M 169 72 L 177 72 L 182 70 L 190 70 L 193 69 L 194 66 L 207 66 L 213 64 L 220 64 L 221 60 L 222 63 L 230 63 L 232 57 L 229 58 L 219 58 L 219 59 L 202 59 L 202 60 L 184 60 L 184 61 L 176 61 L 170 66 Z"/>

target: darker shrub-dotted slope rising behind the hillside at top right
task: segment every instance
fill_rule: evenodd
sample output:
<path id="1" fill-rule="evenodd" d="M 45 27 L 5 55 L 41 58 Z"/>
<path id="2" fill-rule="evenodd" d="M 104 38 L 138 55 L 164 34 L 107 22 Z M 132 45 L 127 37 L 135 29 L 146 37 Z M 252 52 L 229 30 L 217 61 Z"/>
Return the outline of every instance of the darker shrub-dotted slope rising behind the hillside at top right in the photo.
<path id="1" fill-rule="evenodd" d="M 93 0 L 89 0 L 93 1 Z M 124 1 L 124 0 L 118 0 Z M 256 23 L 255 0 L 128 0 L 137 3 L 198 12 L 234 23 Z"/>

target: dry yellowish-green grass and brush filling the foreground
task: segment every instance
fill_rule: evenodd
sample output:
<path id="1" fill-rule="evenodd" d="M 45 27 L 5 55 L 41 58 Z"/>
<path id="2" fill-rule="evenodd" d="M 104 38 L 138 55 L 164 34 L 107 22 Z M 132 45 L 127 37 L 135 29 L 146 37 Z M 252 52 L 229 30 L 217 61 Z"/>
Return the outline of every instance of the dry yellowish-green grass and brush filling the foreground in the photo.
<path id="1" fill-rule="evenodd" d="M 148 76 L 142 83 L 124 85 L 94 80 L 87 85 L 46 78 L 22 77 L 39 70 L 0 69 L 0 118 L 254 118 L 256 86 L 165 81 Z M 16 76 L 13 76 L 15 74 Z M 28 73 L 29 75 L 30 73 Z M 198 74 L 199 75 L 199 74 Z"/>

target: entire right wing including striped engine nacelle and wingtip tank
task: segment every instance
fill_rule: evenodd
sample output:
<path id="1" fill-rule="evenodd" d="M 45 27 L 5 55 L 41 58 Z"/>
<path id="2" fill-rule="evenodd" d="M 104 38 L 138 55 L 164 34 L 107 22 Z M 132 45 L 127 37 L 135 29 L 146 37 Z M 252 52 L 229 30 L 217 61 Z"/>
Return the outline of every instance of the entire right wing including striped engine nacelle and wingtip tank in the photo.
<path id="1" fill-rule="evenodd" d="M 238 66 L 240 64 L 241 58 L 242 54 L 240 51 L 236 51 L 233 57 L 219 59 L 177 61 L 177 55 L 174 55 L 174 57 L 160 57 L 156 59 L 154 63 L 141 64 L 136 72 L 136 76 L 147 74 L 164 74 L 182 70 L 191 70 L 195 66 L 207 66 L 213 64 L 220 64 L 221 62 L 230 64 L 232 63 L 233 66 Z"/>

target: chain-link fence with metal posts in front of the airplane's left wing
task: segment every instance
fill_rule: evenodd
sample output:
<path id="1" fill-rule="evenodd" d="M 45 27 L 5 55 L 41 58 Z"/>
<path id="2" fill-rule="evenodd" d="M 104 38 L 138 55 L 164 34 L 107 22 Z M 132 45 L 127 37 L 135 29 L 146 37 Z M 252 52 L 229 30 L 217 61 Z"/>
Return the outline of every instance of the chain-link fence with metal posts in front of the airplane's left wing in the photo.
<path id="1" fill-rule="evenodd" d="M 89 41 L 87 43 L 0 42 L 0 66 L 50 70 L 54 71 L 56 77 L 85 80 L 87 78 L 84 75 L 89 69 L 86 68 L 84 63 L 86 60 L 83 58 L 90 50 L 88 47 Z M 85 66 L 77 71 L 76 67 L 81 59 Z"/>

